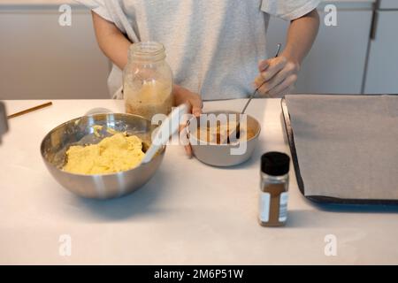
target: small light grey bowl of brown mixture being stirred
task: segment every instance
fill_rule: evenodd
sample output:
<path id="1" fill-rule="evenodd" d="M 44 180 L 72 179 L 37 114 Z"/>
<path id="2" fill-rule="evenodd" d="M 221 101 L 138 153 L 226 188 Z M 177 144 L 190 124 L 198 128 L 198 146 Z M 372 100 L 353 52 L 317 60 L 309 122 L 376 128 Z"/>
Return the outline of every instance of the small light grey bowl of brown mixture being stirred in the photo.
<path id="1" fill-rule="evenodd" d="M 218 114 L 239 115 L 240 113 L 236 111 L 212 111 L 204 114 L 214 114 L 218 116 Z M 196 123 L 192 123 L 191 119 L 188 123 L 188 138 L 189 142 L 191 142 L 195 157 L 205 164 L 220 167 L 233 166 L 247 161 L 253 155 L 254 149 L 256 149 L 258 136 L 261 132 L 260 123 L 249 115 L 247 115 L 247 117 L 248 128 L 251 128 L 256 134 L 245 142 L 246 144 L 242 144 L 243 141 L 233 144 L 200 144 L 201 141 L 199 141 L 195 134 L 193 134 L 195 133 L 197 126 L 200 125 L 200 119 L 195 118 Z M 246 146 L 246 150 L 242 154 L 232 154 L 231 149 L 238 149 L 241 146 Z M 242 149 L 244 149 L 244 147 L 242 147 Z"/>

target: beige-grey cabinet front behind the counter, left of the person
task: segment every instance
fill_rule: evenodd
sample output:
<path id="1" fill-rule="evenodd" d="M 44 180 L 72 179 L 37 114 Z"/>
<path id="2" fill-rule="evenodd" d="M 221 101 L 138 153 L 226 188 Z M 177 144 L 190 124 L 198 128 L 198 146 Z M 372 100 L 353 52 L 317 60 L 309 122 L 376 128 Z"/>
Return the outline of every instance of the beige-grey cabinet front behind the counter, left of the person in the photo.
<path id="1" fill-rule="evenodd" d="M 61 27 L 58 7 L 0 5 L 0 99 L 109 98 L 90 12 L 73 5 L 72 27 Z"/>

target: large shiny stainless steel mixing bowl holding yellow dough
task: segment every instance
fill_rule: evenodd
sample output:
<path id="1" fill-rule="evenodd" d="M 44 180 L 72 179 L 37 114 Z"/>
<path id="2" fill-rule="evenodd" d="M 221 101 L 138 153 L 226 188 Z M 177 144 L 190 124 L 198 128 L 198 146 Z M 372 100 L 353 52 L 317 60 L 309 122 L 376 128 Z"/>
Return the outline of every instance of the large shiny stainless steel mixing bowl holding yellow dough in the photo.
<path id="1" fill-rule="evenodd" d="M 103 126 L 127 134 L 139 136 L 148 147 L 151 142 L 152 126 L 149 120 L 131 114 L 97 114 L 70 120 L 57 126 L 47 134 L 41 146 L 42 158 L 51 175 L 57 182 L 86 198 L 110 199 L 127 195 L 142 187 L 157 172 L 165 156 L 165 148 L 148 164 L 126 172 L 103 175 L 80 175 L 62 170 L 65 165 L 65 152 L 71 145 L 97 143 L 103 136 L 97 136 L 94 126 Z M 101 134 L 106 134 L 106 131 Z"/>

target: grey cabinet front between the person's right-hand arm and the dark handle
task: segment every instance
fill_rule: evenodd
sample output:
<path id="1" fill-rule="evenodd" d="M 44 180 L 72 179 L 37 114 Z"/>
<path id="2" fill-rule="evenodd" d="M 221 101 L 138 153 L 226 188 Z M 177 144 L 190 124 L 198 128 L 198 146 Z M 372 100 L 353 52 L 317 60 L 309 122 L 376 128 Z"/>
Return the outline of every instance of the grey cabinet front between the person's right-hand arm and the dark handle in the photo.
<path id="1" fill-rule="evenodd" d="M 364 69 L 371 34 L 372 4 L 369 1 L 335 4 L 337 27 L 325 26 L 325 4 L 319 6 L 320 29 L 309 56 L 302 64 L 296 84 L 301 93 L 362 93 Z M 272 18 L 268 46 L 286 42 L 289 23 Z"/>

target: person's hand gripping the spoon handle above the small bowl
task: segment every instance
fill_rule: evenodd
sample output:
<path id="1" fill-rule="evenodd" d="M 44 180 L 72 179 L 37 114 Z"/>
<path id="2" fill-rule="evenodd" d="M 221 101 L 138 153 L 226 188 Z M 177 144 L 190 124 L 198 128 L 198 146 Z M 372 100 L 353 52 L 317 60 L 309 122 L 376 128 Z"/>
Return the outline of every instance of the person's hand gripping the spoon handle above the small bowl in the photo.
<path id="1" fill-rule="evenodd" d="M 264 96 L 285 96 L 295 88 L 295 81 L 300 70 L 300 64 L 287 59 L 283 55 L 260 61 L 258 64 L 259 75 L 254 85 L 259 93 Z"/>

